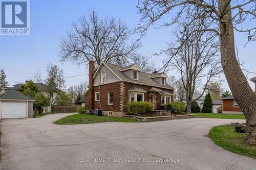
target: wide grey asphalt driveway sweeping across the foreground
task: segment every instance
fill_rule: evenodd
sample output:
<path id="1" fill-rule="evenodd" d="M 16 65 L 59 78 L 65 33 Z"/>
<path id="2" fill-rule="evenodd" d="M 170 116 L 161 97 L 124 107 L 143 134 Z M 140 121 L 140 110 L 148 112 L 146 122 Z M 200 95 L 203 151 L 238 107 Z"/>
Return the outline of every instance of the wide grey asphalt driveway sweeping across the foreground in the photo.
<path id="1" fill-rule="evenodd" d="M 255 169 L 206 135 L 232 119 L 55 125 L 69 114 L 1 122 L 0 169 Z M 176 163 L 175 163 L 176 162 Z"/>

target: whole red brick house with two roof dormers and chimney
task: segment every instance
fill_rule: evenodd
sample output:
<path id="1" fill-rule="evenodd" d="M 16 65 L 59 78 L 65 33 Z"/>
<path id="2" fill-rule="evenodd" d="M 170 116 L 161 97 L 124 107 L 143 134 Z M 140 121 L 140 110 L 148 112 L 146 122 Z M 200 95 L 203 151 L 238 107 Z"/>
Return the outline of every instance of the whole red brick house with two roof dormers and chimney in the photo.
<path id="1" fill-rule="evenodd" d="M 173 102 L 174 88 L 166 83 L 164 72 L 142 72 L 137 64 L 121 67 L 101 62 L 89 62 L 89 88 L 85 106 L 89 111 L 101 109 L 104 115 L 122 116 L 129 102 L 152 102 L 154 109 Z"/>

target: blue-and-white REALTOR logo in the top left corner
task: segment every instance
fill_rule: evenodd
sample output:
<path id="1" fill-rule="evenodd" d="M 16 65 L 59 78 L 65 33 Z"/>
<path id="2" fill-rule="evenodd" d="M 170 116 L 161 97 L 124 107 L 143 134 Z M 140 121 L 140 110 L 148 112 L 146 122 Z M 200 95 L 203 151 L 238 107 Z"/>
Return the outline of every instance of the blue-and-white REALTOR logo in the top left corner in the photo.
<path id="1" fill-rule="evenodd" d="M 1 1 L 0 35 L 29 35 L 29 1 Z"/>

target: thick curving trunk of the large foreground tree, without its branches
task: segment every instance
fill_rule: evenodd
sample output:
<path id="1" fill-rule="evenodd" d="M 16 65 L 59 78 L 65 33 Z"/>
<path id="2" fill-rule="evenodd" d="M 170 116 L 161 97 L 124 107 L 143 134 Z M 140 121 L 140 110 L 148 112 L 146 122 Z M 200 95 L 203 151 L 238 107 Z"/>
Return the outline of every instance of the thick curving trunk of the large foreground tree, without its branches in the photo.
<path id="1" fill-rule="evenodd" d="M 219 0 L 220 13 L 229 0 Z M 230 4 L 227 9 L 230 8 Z M 234 33 L 231 11 L 223 16 L 220 22 L 221 31 L 221 64 L 229 88 L 246 117 L 246 133 L 243 140 L 249 144 L 256 144 L 256 95 L 249 86 L 234 48 Z"/>

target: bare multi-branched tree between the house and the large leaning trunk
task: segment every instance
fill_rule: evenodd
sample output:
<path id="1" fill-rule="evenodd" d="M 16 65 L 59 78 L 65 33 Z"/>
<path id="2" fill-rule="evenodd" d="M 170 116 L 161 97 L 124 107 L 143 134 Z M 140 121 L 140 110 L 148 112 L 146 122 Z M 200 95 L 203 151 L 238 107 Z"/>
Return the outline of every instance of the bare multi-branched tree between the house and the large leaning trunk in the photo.
<path id="1" fill-rule="evenodd" d="M 165 69 L 177 69 L 186 90 L 187 113 L 191 113 L 192 102 L 203 95 L 208 82 L 221 72 L 219 41 L 217 35 L 211 32 L 197 32 L 208 28 L 210 23 L 205 23 L 204 18 L 199 17 L 193 23 L 183 21 L 174 33 L 175 42 L 169 43 L 167 51 L 169 55 L 164 60 Z M 206 80 L 205 82 L 202 79 Z M 193 99 L 194 92 L 200 88 L 201 95 Z"/>

